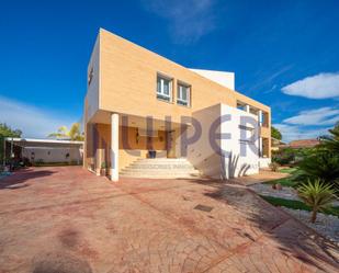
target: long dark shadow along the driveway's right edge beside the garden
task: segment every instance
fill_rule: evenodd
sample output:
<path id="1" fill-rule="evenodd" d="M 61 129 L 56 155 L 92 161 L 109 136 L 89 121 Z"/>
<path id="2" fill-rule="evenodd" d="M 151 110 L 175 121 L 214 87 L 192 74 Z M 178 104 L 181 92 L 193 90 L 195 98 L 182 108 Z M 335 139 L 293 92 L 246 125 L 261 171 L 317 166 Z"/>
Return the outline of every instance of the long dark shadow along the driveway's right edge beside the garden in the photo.
<path id="1" fill-rule="evenodd" d="M 284 253 L 325 272 L 327 270 L 323 264 L 329 263 L 335 268 L 339 266 L 338 248 L 335 244 L 282 209 L 263 201 L 250 190 L 216 180 L 192 180 L 191 182 L 214 189 L 204 193 L 205 196 L 227 203 L 234 209 L 246 215 L 248 220 L 279 242 L 280 250 Z M 268 207 L 270 207 L 270 212 L 268 212 Z M 289 224 L 286 224 L 287 221 Z M 241 235 L 241 230 L 239 230 L 239 235 Z M 241 236 L 248 237 L 246 234 Z M 250 239 L 256 240 L 256 238 Z"/>

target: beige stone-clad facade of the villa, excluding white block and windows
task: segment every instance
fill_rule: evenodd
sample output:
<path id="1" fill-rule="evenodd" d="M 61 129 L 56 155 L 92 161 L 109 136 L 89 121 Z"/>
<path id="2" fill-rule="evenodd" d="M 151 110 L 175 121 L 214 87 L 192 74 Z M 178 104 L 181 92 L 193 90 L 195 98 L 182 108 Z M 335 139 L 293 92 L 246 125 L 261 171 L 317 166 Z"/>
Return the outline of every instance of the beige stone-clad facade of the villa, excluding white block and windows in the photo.
<path id="1" fill-rule="evenodd" d="M 157 77 L 170 81 L 169 101 L 157 98 Z M 188 106 L 178 103 L 179 84 L 189 87 Z M 241 105 L 258 117 L 260 153 L 270 158 L 269 106 L 101 29 L 88 66 L 84 167 L 99 173 L 105 166 L 112 172 L 112 155 L 118 153 L 118 171 L 149 150 L 183 157 L 180 139 L 192 127 L 189 117 L 218 104 Z M 112 151 L 113 113 L 118 115 L 118 151 Z"/>

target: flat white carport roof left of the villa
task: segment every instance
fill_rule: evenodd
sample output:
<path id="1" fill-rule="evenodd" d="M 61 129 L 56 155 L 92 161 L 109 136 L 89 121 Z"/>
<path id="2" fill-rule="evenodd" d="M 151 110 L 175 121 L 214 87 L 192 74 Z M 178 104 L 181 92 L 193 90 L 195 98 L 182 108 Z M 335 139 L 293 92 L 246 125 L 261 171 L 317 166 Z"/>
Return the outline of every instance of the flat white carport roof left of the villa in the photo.
<path id="1" fill-rule="evenodd" d="M 66 147 L 82 147 L 83 141 L 74 140 L 59 140 L 59 139 L 39 139 L 39 138 L 19 138 L 19 137 L 7 137 L 5 141 L 13 141 L 14 145 L 24 148 L 41 148 L 41 147 L 54 147 L 54 148 L 66 148 Z"/>

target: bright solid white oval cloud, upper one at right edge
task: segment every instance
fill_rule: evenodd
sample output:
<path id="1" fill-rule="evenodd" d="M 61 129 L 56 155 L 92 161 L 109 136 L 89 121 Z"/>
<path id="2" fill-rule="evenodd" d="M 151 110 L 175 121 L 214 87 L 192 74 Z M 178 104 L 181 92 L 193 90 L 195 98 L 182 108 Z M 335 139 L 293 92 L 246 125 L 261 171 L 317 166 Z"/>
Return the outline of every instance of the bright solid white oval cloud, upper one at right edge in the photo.
<path id="1" fill-rule="evenodd" d="M 307 77 L 282 88 L 282 91 L 285 94 L 308 99 L 339 98 L 339 72 Z"/>

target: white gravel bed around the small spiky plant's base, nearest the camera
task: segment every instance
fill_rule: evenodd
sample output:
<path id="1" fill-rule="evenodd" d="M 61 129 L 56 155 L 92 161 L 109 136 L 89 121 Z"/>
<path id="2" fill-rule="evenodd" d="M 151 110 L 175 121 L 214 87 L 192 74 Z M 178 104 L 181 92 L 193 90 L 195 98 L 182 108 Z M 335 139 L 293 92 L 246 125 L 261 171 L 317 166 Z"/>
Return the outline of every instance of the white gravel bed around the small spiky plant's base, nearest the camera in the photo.
<path id="1" fill-rule="evenodd" d="M 292 209 L 287 207 L 281 208 L 303 221 L 309 228 L 315 229 L 317 232 L 328 238 L 339 247 L 339 218 L 337 216 L 318 213 L 316 223 L 312 224 L 309 221 L 310 212 Z"/>

